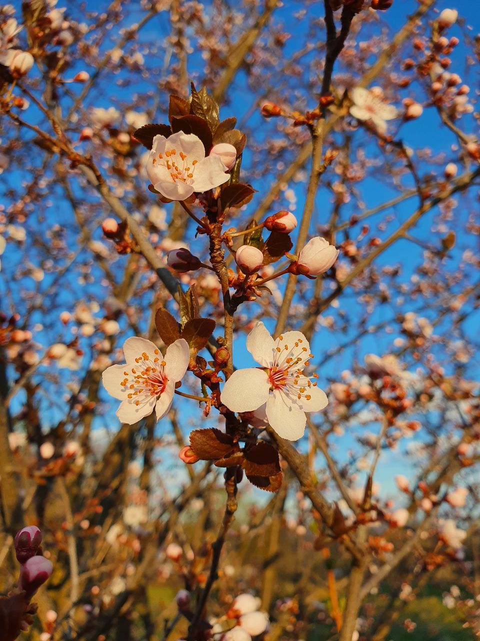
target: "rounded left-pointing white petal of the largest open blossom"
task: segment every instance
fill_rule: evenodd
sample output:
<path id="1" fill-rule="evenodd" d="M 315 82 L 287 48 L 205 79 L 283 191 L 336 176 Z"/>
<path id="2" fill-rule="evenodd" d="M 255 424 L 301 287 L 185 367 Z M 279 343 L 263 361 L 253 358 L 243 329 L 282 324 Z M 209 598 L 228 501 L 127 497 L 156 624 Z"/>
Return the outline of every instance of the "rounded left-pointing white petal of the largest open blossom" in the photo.
<path id="1" fill-rule="evenodd" d="M 223 385 L 220 400 L 232 412 L 252 412 L 266 403 L 270 383 L 261 369 L 239 369 Z"/>

